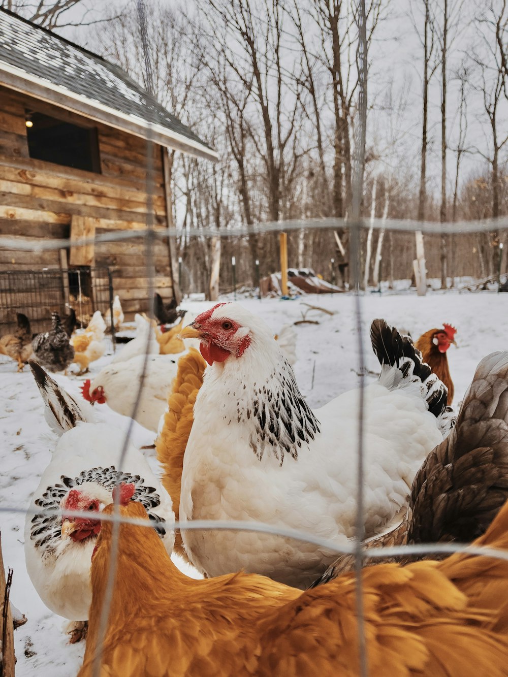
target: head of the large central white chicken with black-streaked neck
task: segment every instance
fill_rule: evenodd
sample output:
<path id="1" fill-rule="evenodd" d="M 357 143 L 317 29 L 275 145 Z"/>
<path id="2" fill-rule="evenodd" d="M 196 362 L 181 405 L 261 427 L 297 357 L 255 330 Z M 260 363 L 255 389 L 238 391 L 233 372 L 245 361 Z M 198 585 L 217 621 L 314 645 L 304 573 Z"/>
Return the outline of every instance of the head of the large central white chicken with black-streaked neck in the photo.
<path id="1" fill-rule="evenodd" d="M 180 337 L 199 339 L 201 355 L 209 365 L 232 355 L 242 357 L 251 345 L 275 343 L 268 325 L 238 303 L 217 303 L 186 326 Z"/>

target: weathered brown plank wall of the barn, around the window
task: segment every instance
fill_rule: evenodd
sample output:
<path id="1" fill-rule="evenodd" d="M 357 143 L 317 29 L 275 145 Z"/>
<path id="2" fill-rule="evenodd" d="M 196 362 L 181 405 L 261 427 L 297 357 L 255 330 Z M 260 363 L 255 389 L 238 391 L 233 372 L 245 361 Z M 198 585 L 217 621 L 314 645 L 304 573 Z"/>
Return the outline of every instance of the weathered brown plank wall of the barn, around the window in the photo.
<path id="1" fill-rule="evenodd" d="M 25 109 L 98 129 L 102 173 L 34 160 L 28 155 Z M 152 219 L 167 227 L 161 146 L 153 148 Z M 97 235 L 144 230 L 147 217 L 146 141 L 87 121 L 55 106 L 0 87 L 0 235 L 28 242 L 70 237 L 72 217 L 85 217 Z M 127 319 L 148 307 L 148 278 L 142 238 L 97 243 L 94 265 L 112 269 L 114 292 Z M 154 245 L 156 290 L 173 295 L 167 240 Z M 60 267 L 58 249 L 0 250 L 0 270 Z"/>

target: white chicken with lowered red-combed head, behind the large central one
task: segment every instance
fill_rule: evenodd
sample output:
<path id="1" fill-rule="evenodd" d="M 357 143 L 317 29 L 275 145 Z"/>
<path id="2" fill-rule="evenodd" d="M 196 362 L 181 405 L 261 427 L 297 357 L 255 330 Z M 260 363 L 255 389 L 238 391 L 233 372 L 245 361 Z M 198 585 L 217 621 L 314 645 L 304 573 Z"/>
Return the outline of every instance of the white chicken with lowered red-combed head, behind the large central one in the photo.
<path id="1" fill-rule="evenodd" d="M 93 380 L 85 381 L 83 397 L 92 403 L 107 403 L 118 414 L 130 416 L 144 428 L 157 432 L 159 420 L 167 408 L 167 396 L 176 376 L 179 356 L 148 355 L 143 389 L 135 411 L 145 355 L 108 364 Z"/>

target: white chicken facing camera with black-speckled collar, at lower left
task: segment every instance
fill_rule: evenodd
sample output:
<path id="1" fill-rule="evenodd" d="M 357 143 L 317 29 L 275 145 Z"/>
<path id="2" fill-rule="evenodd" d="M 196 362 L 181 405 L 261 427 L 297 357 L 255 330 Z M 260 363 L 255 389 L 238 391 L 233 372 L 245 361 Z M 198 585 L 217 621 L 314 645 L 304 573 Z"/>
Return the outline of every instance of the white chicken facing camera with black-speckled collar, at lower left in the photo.
<path id="1" fill-rule="evenodd" d="M 91 602 L 91 554 L 100 531 L 98 512 L 111 502 L 118 481 L 136 487 L 132 500 L 142 502 L 167 552 L 173 550 L 171 498 L 156 479 L 144 456 L 129 444 L 118 467 L 125 433 L 83 416 L 71 398 L 35 362 L 30 363 L 51 416 L 60 423 L 60 440 L 35 490 L 26 516 L 26 569 L 39 596 L 51 611 L 81 630 Z M 60 407 L 51 405 L 58 401 Z M 53 509 L 49 513 L 47 510 Z M 72 510 L 89 518 L 72 517 Z M 164 525 L 167 522 L 170 527 Z M 75 632 L 74 639 L 81 638 Z"/>

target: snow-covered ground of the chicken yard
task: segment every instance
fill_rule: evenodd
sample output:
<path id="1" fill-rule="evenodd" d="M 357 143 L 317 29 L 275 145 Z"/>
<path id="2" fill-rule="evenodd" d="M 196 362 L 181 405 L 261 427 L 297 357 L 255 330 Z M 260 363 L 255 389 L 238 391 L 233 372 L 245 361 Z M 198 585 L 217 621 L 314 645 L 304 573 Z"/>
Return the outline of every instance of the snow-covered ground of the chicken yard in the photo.
<path id="1" fill-rule="evenodd" d="M 280 330 L 287 322 L 301 320 L 305 307 L 301 301 L 334 311 L 334 315 L 309 311 L 307 318 L 319 324 L 301 324 L 297 332 L 295 365 L 297 380 L 311 406 L 320 406 L 335 395 L 358 385 L 360 345 L 355 312 L 355 299 L 349 294 L 335 297 L 305 297 L 295 301 L 249 299 L 242 305 L 259 313 L 272 327 Z M 455 385 L 456 407 L 471 382 L 475 367 L 484 355 L 508 349 L 508 294 L 494 292 L 429 292 L 419 298 L 414 292 L 400 294 L 377 293 L 360 297 L 362 331 L 367 379 L 378 372 L 368 331 L 374 318 L 385 318 L 413 339 L 421 333 L 442 326 L 443 322 L 457 328 L 457 349 L 448 351 L 450 373 Z M 191 303 L 192 311 L 209 307 Z M 121 350 L 123 346 L 119 346 Z M 91 365 L 91 374 L 98 372 L 111 355 Z M 75 396 L 81 397 L 79 385 L 87 376 L 56 376 L 58 383 Z M 15 632 L 16 675 L 18 677 L 72 677 L 77 674 L 84 646 L 68 645 L 62 634 L 64 619 L 43 605 L 26 573 L 23 550 L 23 510 L 39 483 L 41 473 L 50 460 L 54 438 L 43 418 L 39 391 L 28 367 L 16 373 L 16 364 L 7 357 L 0 362 L 0 506 L 16 508 L 17 512 L 0 512 L 0 529 L 5 567 L 14 568 L 11 599 L 27 617 L 28 622 Z M 135 384 L 133 384 L 135 387 Z M 112 412 L 107 406 L 96 406 L 100 420 L 125 428 L 127 418 Z M 153 433 L 135 424 L 133 442 L 137 446 L 153 442 Z M 145 452 L 150 464 L 158 471 L 154 450 Z M 66 622 L 66 621 L 65 621 Z"/>

